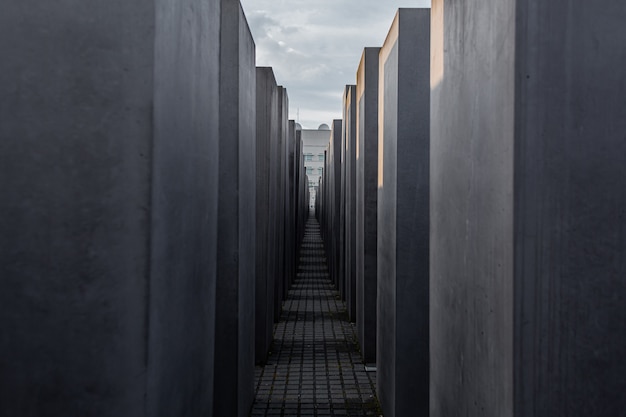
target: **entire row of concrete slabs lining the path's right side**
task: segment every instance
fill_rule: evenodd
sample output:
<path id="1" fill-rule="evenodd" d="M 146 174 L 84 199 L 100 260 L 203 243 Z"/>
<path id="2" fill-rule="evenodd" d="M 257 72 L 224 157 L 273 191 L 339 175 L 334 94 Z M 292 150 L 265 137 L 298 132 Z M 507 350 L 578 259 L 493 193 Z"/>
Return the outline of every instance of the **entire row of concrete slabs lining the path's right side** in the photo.
<path id="1" fill-rule="evenodd" d="M 433 0 L 365 48 L 316 215 L 385 417 L 624 415 L 625 20 Z"/>

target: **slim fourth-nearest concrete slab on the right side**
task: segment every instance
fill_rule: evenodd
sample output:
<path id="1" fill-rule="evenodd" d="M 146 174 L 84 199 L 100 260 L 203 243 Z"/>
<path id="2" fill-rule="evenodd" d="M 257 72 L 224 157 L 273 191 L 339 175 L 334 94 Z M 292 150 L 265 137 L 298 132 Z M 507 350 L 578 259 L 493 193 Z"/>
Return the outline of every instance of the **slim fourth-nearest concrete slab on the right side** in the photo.
<path id="1" fill-rule="evenodd" d="M 356 85 L 343 97 L 345 232 L 344 291 L 348 318 L 356 320 Z"/>

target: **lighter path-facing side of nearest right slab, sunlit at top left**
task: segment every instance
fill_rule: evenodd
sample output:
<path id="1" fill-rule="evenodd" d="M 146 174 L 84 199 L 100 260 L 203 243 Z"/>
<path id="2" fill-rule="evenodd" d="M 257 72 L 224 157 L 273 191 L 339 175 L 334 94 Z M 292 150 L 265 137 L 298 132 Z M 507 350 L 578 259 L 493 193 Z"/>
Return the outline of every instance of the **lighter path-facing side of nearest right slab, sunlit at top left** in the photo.
<path id="1" fill-rule="evenodd" d="M 513 415 L 515 6 L 499 4 L 432 7 L 433 416 Z"/>

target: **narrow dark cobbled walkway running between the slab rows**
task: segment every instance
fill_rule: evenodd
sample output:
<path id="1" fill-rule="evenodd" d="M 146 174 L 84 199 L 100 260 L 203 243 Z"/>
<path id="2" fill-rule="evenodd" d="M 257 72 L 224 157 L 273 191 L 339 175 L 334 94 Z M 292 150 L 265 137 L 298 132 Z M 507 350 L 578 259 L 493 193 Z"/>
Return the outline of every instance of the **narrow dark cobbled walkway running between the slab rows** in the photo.
<path id="1" fill-rule="evenodd" d="M 319 224 L 310 217 L 298 274 L 256 369 L 252 416 L 379 416 L 376 374 L 365 372 L 354 326 L 328 276 Z"/>

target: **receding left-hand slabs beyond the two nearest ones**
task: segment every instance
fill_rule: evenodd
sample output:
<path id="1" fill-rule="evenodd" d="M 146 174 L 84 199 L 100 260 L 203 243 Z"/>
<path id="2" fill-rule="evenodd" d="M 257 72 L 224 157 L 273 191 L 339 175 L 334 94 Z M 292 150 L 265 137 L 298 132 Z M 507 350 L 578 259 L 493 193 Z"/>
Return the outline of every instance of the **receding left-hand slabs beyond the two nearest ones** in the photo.
<path id="1" fill-rule="evenodd" d="M 255 360 L 264 364 L 296 274 L 310 195 L 301 130 L 288 120 L 286 89 L 270 67 L 256 69 L 256 89 Z"/>

